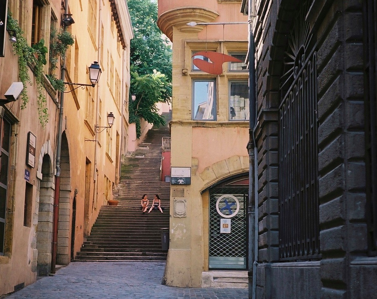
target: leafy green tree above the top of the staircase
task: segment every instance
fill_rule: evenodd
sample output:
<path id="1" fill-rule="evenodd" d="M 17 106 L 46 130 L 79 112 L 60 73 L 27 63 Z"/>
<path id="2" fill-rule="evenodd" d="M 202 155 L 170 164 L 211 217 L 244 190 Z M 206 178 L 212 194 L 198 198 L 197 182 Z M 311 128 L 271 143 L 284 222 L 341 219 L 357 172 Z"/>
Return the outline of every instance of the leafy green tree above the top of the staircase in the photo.
<path id="1" fill-rule="evenodd" d="M 156 126 L 165 124 L 155 105 L 172 97 L 172 49 L 157 26 L 157 4 L 150 0 L 127 4 L 135 35 L 130 44 L 130 93 L 136 100 L 129 102 L 129 121 L 136 123 L 139 138 L 139 117 Z"/>

